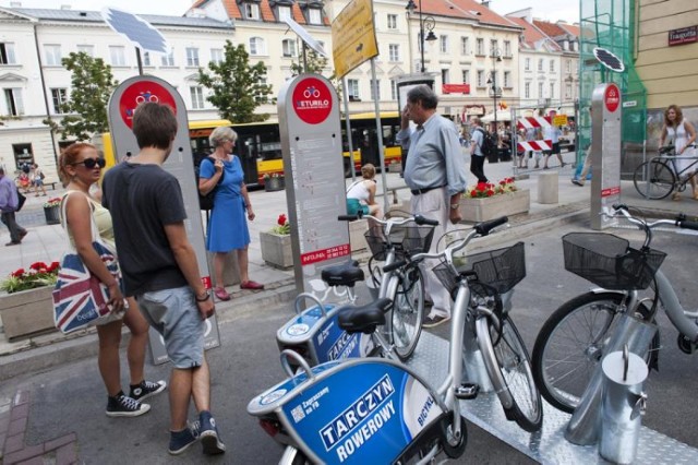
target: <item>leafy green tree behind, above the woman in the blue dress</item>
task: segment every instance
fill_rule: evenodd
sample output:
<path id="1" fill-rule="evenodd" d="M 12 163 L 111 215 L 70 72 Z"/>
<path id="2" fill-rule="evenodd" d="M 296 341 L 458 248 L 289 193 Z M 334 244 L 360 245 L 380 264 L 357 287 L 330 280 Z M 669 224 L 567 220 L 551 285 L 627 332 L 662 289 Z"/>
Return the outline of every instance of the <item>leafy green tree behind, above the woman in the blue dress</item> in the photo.
<path id="1" fill-rule="evenodd" d="M 206 97 L 221 118 L 236 123 L 264 121 L 267 114 L 255 114 L 255 109 L 267 102 L 272 86 L 266 82 L 266 67 L 262 61 L 250 65 L 250 55 L 243 45 L 237 47 L 226 40 L 225 57 L 220 63 L 209 62 L 207 73 L 198 70 L 198 83 L 212 92 Z"/>

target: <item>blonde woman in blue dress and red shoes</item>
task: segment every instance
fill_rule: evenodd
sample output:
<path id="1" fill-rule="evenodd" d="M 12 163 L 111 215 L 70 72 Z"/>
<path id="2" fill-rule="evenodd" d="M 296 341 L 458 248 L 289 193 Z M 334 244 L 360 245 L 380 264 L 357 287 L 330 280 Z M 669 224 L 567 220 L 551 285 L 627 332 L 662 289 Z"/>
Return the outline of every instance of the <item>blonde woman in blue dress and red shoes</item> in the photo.
<path id="1" fill-rule="evenodd" d="M 264 285 L 250 281 L 248 274 L 248 219 L 254 219 L 254 211 L 244 183 L 240 158 L 232 154 L 237 139 L 238 134 L 232 129 L 216 128 L 208 136 L 214 152 L 208 159 L 202 160 L 198 169 L 198 191 L 202 194 L 217 187 L 214 208 L 208 220 L 206 250 L 214 253 L 214 294 L 220 300 L 230 300 L 230 294 L 224 287 L 222 272 L 226 254 L 232 250 L 238 252 L 240 287 L 264 289 Z"/>

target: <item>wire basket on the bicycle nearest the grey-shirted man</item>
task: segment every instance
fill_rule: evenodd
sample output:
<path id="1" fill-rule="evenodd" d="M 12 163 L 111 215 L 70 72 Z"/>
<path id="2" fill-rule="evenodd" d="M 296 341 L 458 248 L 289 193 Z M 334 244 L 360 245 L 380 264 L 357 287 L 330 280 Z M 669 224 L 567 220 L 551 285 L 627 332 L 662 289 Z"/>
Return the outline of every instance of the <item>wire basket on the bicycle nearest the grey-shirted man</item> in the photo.
<path id="1" fill-rule="evenodd" d="M 381 233 L 369 229 L 364 234 L 374 260 L 385 261 L 387 257 L 388 238 Z M 389 243 L 395 248 L 395 259 L 405 260 L 416 253 L 428 252 L 434 237 L 433 226 L 394 226 L 390 228 Z"/>

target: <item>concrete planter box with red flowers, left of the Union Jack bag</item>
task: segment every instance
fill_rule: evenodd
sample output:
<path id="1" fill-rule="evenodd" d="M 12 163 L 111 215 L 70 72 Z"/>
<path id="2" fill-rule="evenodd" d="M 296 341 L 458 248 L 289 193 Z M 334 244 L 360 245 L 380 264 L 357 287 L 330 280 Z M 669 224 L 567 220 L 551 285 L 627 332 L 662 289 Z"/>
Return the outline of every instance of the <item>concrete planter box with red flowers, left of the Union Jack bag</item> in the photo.
<path id="1" fill-rule="evenodd" d="M 0 319 L 9 339 L 57 331 L 53 324 L 53 286 L 0 296 Z"/>

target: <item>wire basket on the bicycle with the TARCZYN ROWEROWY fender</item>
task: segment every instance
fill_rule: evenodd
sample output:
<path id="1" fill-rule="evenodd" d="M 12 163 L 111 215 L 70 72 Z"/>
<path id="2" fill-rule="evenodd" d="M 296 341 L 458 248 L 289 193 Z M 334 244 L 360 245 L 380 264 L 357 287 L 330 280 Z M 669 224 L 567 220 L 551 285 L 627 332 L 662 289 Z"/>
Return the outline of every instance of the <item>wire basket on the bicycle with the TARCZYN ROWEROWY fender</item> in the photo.
<path id="1" fill-rule="evenodd" d="M 438 281 L 452 295 L 458 288 L 459 277 L 466 273 L 474 275 L 472 284 L 482 283 L 504 294 L 526 277 L 524 242 L 465 257 L 464 263 L 458 263 L 455 267 L 457 273 L 454 273 L 447 263 L 442 262 L 433 269 Z"/>

